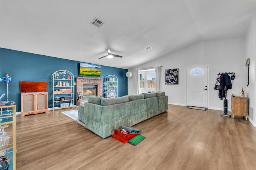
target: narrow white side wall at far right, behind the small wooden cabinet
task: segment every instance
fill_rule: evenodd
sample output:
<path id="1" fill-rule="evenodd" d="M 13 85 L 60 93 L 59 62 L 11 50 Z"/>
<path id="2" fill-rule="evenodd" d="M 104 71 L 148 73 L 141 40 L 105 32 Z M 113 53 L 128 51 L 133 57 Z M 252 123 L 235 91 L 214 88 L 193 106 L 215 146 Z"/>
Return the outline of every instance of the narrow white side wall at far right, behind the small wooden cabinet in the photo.
<path id="1" fill-rule="evenodd" d="M 248 27 L 246 36 L 245 36 L 245 53 L 244 56 L 244 63 L 247 58 L 250 58 L 250 69 L 249 69 L 249 85 L 246 86 L 245 92 L 246 96 L 248 97 L 249 106 L 253 108 L 254 113 L 252 116 L 249 117 L 250 122 L 252 125 L 256 126 L 256 116 L 255 116 L 255 57 L 256 57 L 256 17 L 255 15 L 252 17 L 252 21 Z M 247 76 L 247 70 L 245 75 Z M 247 78 L 246 78 L 247 79 Z M 246 84 L 247 85 L 247 84 Z"/>

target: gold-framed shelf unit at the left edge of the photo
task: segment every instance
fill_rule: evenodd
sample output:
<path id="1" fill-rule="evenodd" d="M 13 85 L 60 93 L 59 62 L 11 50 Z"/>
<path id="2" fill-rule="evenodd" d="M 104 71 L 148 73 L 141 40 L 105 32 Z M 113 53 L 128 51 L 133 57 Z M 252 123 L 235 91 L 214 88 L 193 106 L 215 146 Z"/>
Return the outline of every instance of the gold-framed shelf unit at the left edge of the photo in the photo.
<path id="1" fill-rule="evenodd" d="M 10 156 L 9 170 L 16 170 L 16 105 L 0 106 L 0 118 L 0 125 L 9 125 L 12 128 L 12 134 L 4 129 L 10 137 L 4 157 Z"/>

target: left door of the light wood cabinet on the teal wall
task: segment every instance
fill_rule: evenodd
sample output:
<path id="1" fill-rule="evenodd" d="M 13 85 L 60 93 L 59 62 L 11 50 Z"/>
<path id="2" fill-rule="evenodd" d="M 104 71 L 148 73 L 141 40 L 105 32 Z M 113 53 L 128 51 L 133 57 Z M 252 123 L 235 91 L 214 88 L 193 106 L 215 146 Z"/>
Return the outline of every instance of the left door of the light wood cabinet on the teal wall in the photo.
<path id="1" fill-rule="evenodd" d="M 21 93 L 21 113 L 35 110 L 35 93 Z"/>

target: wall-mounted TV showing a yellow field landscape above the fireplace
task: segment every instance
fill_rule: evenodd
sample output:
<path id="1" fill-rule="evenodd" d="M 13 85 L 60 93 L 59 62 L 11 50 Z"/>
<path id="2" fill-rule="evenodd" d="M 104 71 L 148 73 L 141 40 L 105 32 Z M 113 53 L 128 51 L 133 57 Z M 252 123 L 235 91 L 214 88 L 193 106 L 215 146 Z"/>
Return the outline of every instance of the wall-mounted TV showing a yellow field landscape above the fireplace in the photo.
<path id="1" fill-rule="evenodd" d="M 80 63 L 79 76 L 100 77 L 101 66 L 90 63 Z"/>

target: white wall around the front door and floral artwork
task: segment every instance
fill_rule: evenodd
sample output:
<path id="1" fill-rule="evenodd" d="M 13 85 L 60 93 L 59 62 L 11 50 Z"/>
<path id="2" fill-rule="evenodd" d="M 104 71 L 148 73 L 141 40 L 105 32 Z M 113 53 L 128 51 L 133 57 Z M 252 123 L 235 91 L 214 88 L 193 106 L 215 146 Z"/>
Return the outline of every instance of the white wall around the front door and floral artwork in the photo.
<path id="1" fill-rule="evenodd" d="M 219 72 L 235 72 L 234 85 L 227 92 L 228 110 L 231 111 L 231 95 L 238 95 L 242 86 L 244 87 L 246 84 L 244 49 L 243 38 L 204 41 L 135 68 L 130 68 L 129 71 L 134 75 L 133 69 L 162 65 L 162 91 L 168 95 L 168 103 L 185 106 L 186 67 L 210 65 L 210 90 L 208 92 L 210 106 L 208 108 L 218 110 L 223 110 L 223 100 L 218 98 L 218 90 L 214 90 L 217 74 Z M 165 70 L 171 68 L 179 68 L 178 85 L 165 85 Z M 128 79 L 128 94 L 134 94 L 134 76 Z"/>

